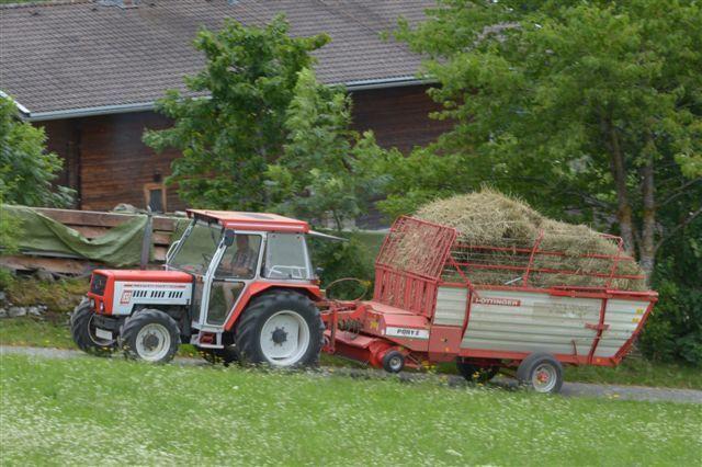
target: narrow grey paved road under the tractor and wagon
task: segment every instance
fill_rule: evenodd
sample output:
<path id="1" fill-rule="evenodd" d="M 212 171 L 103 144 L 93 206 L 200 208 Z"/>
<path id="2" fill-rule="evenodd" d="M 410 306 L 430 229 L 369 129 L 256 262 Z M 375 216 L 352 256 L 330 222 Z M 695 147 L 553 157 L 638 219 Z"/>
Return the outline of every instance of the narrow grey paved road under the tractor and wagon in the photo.
<path id="1" fill-rule="evenodd" d="M 0 345 L 0 356 L 9 354 L 31 355 L 46 358 L 76 358 L 89 357 L 77 350 L 63 349 L 42 349 L 26 346 L 9 346 Z M 197 358 L 176 358 L 176 363 L 180 365 L 208 365 L 208 363 Z M 342 375 L 356 378 L 397 378 L 412 381 L 437 381 L 451 387 L 466 386 L 466 381 L 455 375 L 433 375 L 401 373 L 400 375 L 389 375 L 383 371 L 372 368 L 328 368 L 322 367 L 318 372 L 321 375 Z M 516 381 L 509 378 L 496 378 L 497 386 L 506 388 L 514 388 Z M 671 389 L 671 388 L 653 388 L 643 386 L 616 386 L 616 385 L 596 385 L 589 383 L 565 383 L 563 385 L 562 395 L 567 397 L 602 397 L 619 400 L 645 400 L 645 401 L 670 401 L 687 402 L 702 405 L 702 390 L 695 389 Z"/>

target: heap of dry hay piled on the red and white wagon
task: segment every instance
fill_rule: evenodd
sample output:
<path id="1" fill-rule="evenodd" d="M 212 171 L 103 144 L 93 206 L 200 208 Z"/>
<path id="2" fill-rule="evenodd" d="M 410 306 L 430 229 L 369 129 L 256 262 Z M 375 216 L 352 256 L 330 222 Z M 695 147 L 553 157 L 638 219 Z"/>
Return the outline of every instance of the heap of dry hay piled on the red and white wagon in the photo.
<path id="1" fill-rule="evenodd" d="M 632 259 L 622 258 L 615 264 L 610 258 L 598 258 L 616 255 L 615 240 L 584 225 L 544 217 L 525 203 L 492 190 L 434 201 L 419 208 L 415 217 L 458 231 L 457 242 L 463 247 L 452 254 L 458 262 L 473 264 L 464 271 L 474 284 L 522 285 L 531 254 L 520 250 L 531 250 L 541 237 L 539 250 L 545 254 L 535 254 L 532 267 L 542 271 L 530 274 L 529 285 L 604 287 L 615 266 L 610 288 L 646 289 L 643 278 L 616 277 L 644 275 Z M 499 251 L 480 247 L 498 247 Z M 490 267 L 494 265 L 512 269 Z M 444 278 L 451 274 L 455 270 L 446 270 Z"/>

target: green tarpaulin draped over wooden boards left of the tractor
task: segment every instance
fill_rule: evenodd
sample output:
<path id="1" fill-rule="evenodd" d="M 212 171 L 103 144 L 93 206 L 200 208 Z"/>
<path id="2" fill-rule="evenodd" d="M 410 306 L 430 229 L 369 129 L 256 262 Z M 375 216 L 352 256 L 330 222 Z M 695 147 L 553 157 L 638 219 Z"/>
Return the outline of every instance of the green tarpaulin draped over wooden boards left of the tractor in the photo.
<path id="1" fill-rule="evenodd" d="M 148 221 L 146 215 L 135 215 L 133 220 L 89 239 L 31 207 L 2 205 L 0 221 L 4 216 L 19 218 L 22 223 L 19 241 L 22 252 L 78 257 L 117 267 L 139 263 L 144 229 Z"/>

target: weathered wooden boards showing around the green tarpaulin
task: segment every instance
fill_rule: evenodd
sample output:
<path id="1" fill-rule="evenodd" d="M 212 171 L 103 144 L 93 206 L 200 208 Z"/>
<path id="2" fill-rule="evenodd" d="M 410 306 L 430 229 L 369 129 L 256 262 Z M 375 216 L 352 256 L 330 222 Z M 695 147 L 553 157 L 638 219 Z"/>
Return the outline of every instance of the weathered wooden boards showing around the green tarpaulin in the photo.
<path id="1" fill-rule="evenodd" d="M 102 213 L 93 210 L 36 208 L 41 214 L 57 220 L 67 227 L 78 230 L 87 238 L 97 238 L 111 228 L 134 219 L 134 215 L 118 213 Z M 152 236 L 154 261 L 151 266 L 158 266 L 166 261 L 166 252 L 171 243 L 171 236 L 176 229 L 172 217 L 154 216 Z M 100 264 L 82 259 L 58 258 L 46 253 L 0 257 L 0 264 L 20 271 L 45 270 L 60 274 L 84 274 L 99 267 Z"/>

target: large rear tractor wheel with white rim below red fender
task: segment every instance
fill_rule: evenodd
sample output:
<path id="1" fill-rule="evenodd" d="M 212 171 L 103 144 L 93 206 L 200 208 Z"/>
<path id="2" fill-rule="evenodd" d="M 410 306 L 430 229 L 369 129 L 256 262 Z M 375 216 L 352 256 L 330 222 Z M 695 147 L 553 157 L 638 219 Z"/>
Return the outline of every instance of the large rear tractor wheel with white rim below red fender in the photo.
<path id="1" fill-rule="evenodd" d="M 291 291 L 261 295 L 239 318 L 235 337 L 239 361 L 278 367 L 315 365 L 324 329 L 319 310 L 306 296 Z"/>

